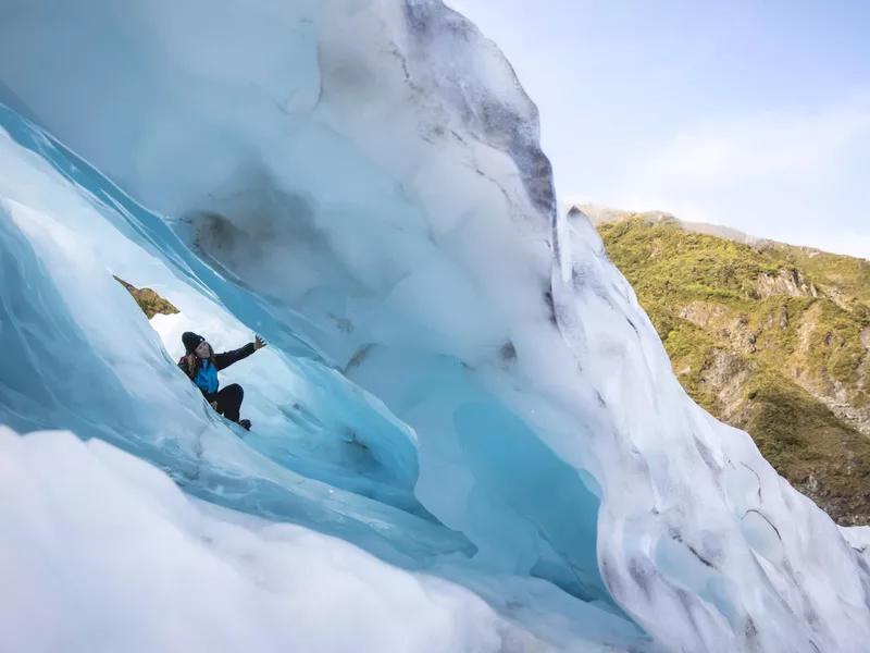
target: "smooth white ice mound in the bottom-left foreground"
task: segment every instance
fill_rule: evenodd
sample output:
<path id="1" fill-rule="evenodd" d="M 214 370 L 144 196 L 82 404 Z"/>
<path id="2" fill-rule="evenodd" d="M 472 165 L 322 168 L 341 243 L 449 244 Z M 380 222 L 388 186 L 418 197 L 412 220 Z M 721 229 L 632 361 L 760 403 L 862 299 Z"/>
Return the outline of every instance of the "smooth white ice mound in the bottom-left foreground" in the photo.
<path id="1" fill-rule="evenodd" d="M 0 427 L 0 500 L 3 651 L 537 648 L 468 590 L 189 500 L 98 440 Z"/>

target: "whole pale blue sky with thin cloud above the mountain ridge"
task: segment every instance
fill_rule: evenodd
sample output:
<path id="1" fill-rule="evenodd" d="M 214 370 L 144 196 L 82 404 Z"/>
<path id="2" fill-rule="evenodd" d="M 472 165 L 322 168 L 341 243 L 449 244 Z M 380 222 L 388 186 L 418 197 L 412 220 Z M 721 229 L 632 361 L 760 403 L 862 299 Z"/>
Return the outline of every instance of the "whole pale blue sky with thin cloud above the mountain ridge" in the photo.
<path id="1" fill-rule="evenodd" d="M 449 0 L 540 110 L 563 201 L 870 258 L 870 0 Z"/>

